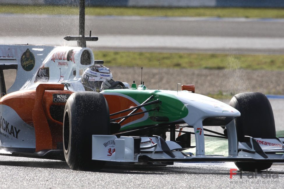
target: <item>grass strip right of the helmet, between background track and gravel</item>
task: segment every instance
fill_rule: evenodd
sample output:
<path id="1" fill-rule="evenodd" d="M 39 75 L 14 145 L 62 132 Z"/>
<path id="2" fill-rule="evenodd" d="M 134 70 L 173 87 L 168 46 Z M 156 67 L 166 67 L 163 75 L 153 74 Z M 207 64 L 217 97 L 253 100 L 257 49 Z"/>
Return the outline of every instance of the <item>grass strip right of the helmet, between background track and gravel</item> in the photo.
<path id="1" fill-rule="evenodd" d="M 284 70 L 284 55 L 235 55 L 94 51 L 106 66 L 190 69 Z"/>

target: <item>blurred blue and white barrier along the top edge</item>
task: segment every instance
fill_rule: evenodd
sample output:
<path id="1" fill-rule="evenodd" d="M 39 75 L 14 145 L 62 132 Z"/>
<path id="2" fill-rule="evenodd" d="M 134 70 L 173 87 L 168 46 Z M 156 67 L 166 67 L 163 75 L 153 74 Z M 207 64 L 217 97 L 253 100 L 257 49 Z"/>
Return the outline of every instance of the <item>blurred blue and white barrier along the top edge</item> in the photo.
<path id="1" fill-rule="evenodd" d="M 284 7 L 283 0 L 85 0 L 87 6 L 119 7 Z M 79 0 L 0 0 L 0 4 L 74 5 Z"/>

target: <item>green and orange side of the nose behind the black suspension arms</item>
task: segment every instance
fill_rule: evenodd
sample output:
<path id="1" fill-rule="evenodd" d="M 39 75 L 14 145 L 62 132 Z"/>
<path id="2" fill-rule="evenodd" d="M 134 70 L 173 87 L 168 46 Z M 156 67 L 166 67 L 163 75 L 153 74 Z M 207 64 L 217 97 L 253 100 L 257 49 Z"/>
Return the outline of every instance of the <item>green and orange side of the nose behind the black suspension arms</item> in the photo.
<path id="1" fill-rule="evenodd" d="M 145 100 L 147 100 L 149 97 L 152 95 L 154 98 L 151 101 L 154 100 L 160 100 L 159 103 L 157 104 L 151 104 L 148 106 L 144 106 L 142 108 L 143 111 L 145 110 L 151 110 L 153 108 L 158 107 L 158 110 L 150 111 L 148 113 L 144 113 L 143 117 L 140 117 L 139 119 L 133 120 L 127 124 L 121 124 L 121 130 L 128 130 L 128 129 L 133 129 L 136 127 L 141 127 L 141 126 L 147 126 L 147 125 L 156 125 L 159 123 L 166 123 L 166 122 L 158 122 L 150 119 L 149 117 L 167 117 L 168 121 L 167 122 L 173 122 L 180 120 L 188 115 L 188 109 L 182 103 L 175 94 L 177 94 L 177 91 L 166 91 L 166 90 L 148 90 L 148 89 L 115 89 L 115 90 L 105 90 L 102 92 L 104 96 L 107 99 L 107 102 L 110 107 L 110 112 L 112 112 L 112 107 L 118 107 L 121 106 L 119 103 L 112 100 L 112 98 L 109 98 L 110 96 L 119 96 L 120 98 L 127 98 L 128 100 L 132 101 L 135 103 L 135 106 L 138 106 L 142 104 Z M 129 107 L 128 107 L 129 108 Z M 127 108 L 124 108 L 127 109 Z M 120 111 L 123 109 L 120 109 Z M 140 111 L 142 111 L 140 110 Z M 131 111 L 127 112 L 130 113 Z M 126 114 L 126 115 L 127 115 Z M 149 115 L 148 115 L 149 114 Z M 142 114 L 143 115 L 143 114 Z M 148 115 L 148 116 L 147 116 Z M 112 118 L 112 117 L 111 117 Z M 128 118 L 129 119 L 129 118 Z M 117 120 L 118 122 L 119 120 Z"/>

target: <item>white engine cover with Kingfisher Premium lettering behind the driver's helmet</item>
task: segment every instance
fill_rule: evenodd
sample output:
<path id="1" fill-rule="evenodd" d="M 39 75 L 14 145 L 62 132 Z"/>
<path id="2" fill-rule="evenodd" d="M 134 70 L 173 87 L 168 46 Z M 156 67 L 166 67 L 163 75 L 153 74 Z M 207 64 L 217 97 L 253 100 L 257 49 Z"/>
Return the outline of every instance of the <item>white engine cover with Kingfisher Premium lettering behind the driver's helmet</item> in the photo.
<path id="1" fill-rule="evenodd" d="M 40 83 L 77 82 L 94 65 L 89 48 L 44 45 L 1 45 L 0 65 L 16 65 L 17 75 L 7 93 L 35 89 Z"/>

